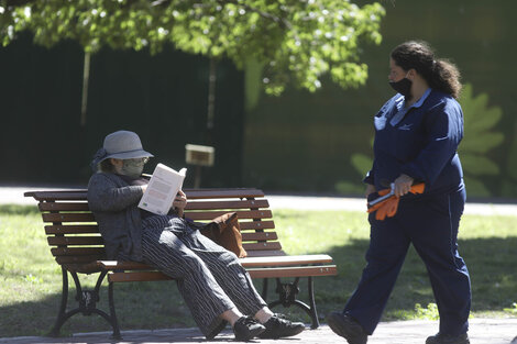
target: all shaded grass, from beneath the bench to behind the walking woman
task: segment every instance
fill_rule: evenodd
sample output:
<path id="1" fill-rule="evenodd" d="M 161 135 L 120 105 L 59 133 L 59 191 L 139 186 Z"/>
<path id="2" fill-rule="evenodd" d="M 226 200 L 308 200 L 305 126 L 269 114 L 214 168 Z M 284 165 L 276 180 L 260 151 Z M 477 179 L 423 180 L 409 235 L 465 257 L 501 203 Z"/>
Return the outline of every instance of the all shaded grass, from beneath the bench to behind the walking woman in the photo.
<path id="1" fill-rule="evenodd" d="M 326 252 L 334 258 L 339 276 L 315 278 L 316 302 L 321 320 L 330 311 L 344 307 L 361 277 L 367 246 L 367 240 L 353 240 L 349 245 L 334 246 Z M 501 312 L 517 301 L 516 247 L 516 236 L 460 241 L 460 253 L 471 273 L 474 312 Z M 56 275 L 57 278 L 61 276 Z M 260 280 L 255 280 L 255 285 L 257 290 L 262 290 Z M 270 284 L 267 301 L 276 299 L 274 285 L 274 281 Z M 305 280 L 300 281 L 299 287 L 299 298 L 307 301 Z M 105 311 L 108 310 L 107 289 L 107 286 L 102 287 L 101 302 L 98 304 Z M 75 308 L 74 297 L 75 292 L 70 290 L 69 304 Z M 44 335 L 54 324 L 59 300 L 61 293 L 55 292 L 37 302 L 0 307 L 0 336 Z M 122 331 L 196 326 L 174 281 L 117 284 L 114 300 Z M 435 300 L 427 271 L 411 248 L 387 304 L 384 320 L 410 318 L 416 303 L 426 307 L 429 302 Z M 275 311 L 290 310 L 280 308 Z M 74 315 L 62 329 L 64 335 L 98 331 L 111 332 L 111 328 L 98 315 L 81 314 Z"/>

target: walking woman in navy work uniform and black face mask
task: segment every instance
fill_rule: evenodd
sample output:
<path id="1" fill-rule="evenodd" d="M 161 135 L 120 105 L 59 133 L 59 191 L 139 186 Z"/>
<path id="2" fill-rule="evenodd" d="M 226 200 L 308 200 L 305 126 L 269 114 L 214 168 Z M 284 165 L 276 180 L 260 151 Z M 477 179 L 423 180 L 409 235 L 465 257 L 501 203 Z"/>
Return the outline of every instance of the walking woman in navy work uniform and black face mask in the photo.
<path id="1" fill-rule="evenodd" d="M 366 343 L 413 244 L 440 314 L 440 330 L 426 343 L 468 344 L 471 285 L 457 242 L 465 202 L 457 153 L 463 137 L 460 74 L 425 42 L 395 47 L 389 69 L 397 95 L 374 116 L 374 162 L 364 181 L 369 199 L 392 186 L 398 211 L 384 220 L 370 214 L 367 265 L 344 310 L 329 314 L 328 322 L 350 344 Z M 409 193 L 417 182 L 425 184 L 424 193 Z"/>

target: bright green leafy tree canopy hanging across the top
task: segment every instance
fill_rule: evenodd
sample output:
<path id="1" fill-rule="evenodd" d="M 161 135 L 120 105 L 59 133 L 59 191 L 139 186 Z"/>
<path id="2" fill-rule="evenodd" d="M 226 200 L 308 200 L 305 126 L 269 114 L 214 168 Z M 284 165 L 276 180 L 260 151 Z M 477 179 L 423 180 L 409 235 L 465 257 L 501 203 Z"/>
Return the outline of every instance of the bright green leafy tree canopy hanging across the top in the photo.
<path id="1" fill-rule="evenodd" d="M 38 44 L 69 38 L 86 52 L 173 44 L 239 68 L 254 59 L 266 91 L 279 95 L 289 82 L 315 91 L 324 74 L 343 88 L 363 85 L 360 44 L 381 43 L 384 14 L 350 0 L 0 0 L 0 37 L 6 46 L 31 31 Z"/>

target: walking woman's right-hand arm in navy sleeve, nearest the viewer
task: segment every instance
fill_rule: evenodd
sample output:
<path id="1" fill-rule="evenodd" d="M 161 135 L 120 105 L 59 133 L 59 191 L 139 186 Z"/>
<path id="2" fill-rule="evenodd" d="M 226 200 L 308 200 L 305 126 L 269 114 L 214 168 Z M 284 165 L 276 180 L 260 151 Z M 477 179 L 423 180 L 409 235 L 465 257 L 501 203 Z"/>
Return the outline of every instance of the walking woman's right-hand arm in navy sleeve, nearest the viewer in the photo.
<path id="1" fill-rule="evenodd" d="M 399 186 L 404 185 L 404 190 L 400 189 L 399 192 L 407 193 L 408 185 L 410 187 L 414 179 L 432 185 L 446 164 L 454 156 L 463 137 L 463 114 L 460 106 L 453 101 L 436 106 L 427 114 L 426 125 L 428 144 L 413 162 L 402 166 L 402 174 L 395 180 Z"/>

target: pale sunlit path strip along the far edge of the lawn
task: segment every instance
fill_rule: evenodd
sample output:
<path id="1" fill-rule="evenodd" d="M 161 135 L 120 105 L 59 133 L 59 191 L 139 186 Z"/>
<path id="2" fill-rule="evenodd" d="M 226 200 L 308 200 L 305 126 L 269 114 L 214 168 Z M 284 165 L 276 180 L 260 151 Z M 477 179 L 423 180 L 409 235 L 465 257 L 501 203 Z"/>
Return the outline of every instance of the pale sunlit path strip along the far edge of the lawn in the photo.
<path id="1" fill-rule="evenodd" d="M 32 187 L 32 186 L 0 186 L 0 204 L 35 204 L 34 199 L 23 197 L 25 191 L 52 190 L 59 188 Z M 348 210 L 365 211 L 366 204 L 362 198 L 344 197 L 312 197 L 312 196 L 278 196 L 268 195 L 267 199 L 273 210 L 275 209 L 300 209 L 300 210 Z M 465 206 L 466 214 L 480 215 L 515 215 L 517 217 L 517 204 L 499 203 L 471 203 Z"/>

